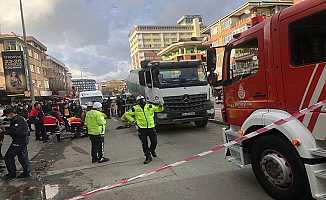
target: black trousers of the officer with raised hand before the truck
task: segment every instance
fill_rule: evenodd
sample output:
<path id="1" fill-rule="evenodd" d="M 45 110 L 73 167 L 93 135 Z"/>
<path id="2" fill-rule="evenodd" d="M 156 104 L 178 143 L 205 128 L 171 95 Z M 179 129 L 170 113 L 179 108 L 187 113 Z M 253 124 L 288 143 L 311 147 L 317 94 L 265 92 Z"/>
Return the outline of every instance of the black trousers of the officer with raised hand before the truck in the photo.
<path id="1" fill-rule="evenodd" d="M 146 158 L 151 157 L 151 152 L 155 152 L 157 146 L 157 135 L 155 128 L 144 128 L 138 129 L 139 139 L 141 140 L 143 152 Z M 148 147 L 148 138 L 151 142 L 150 147 Z"/>

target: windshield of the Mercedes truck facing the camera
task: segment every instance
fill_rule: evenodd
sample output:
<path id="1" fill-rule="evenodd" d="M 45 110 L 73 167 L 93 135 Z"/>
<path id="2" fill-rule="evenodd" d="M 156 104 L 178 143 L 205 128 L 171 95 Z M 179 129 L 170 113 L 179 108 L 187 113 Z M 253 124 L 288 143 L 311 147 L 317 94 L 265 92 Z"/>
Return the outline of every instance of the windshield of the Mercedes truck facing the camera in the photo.
<path id="1" fill-rule="evenodd" d="M 161 87 L 184 87 L 207 84 L 203 66 L 161 68 L 158 79 Z"/>

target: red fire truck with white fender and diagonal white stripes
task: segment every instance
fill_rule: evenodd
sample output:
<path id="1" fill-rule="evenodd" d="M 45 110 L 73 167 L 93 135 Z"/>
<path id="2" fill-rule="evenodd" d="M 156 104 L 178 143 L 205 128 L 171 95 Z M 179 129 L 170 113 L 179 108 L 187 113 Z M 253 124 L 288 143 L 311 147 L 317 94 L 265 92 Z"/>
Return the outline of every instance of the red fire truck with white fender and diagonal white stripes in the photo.
<path id="1" fill-rule="evenodd" d="M 223 87 L 225 142 L 326 99 L 324 0 L 284 9 L 223 48 L 223 78 L 211 84 Z M 207 60 L 210 80 L 214 60 Z M 251 164 L 275 199 L 326 199 L 326 106 L 230 147 L 226 157 Z"/>

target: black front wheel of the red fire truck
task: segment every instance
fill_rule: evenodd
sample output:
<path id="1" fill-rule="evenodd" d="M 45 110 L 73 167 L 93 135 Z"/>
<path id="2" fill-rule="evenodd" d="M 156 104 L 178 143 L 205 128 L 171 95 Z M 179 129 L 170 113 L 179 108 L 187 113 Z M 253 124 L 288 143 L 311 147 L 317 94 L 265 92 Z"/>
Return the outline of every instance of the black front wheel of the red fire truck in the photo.
<path id="1" fill-rule="evenodd" d="M 291 143 L 277 135 L 256 140 L 251 151 L 253 172 L 274 199 L 311 199 L 308 177 Z"/>

